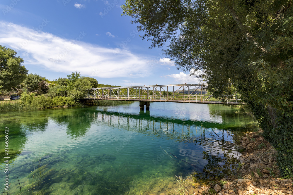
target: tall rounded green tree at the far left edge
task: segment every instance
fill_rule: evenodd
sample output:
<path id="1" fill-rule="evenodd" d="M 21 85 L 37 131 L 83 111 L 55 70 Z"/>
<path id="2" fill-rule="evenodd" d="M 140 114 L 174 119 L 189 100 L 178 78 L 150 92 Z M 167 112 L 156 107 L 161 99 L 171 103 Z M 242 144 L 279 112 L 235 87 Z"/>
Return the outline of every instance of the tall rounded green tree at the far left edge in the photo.
<path id="1" fill-rule="evenodd" d="M 14 90 L 26 77 L 28 70 L 16 51 L 0 45 L 0 90 Z"/>

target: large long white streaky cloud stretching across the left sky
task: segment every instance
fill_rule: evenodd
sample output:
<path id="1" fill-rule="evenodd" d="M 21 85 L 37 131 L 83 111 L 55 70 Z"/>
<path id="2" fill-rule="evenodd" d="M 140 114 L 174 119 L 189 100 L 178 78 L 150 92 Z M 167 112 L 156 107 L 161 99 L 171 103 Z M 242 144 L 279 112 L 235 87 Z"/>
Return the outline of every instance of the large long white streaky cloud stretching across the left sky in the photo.
<path id="1" fill-rule="evenodd" d="M 62 39 L 13 23 L 0 21 L 0 43 L 18 52 L 24 65 L 43 66 L 62 73 L 78 71 L 84 76 L 144 77 L 150 75 L 147 60 L 124 49 L 109 49 L 75 40 Z M 130 76 L 132 74 L 132 76 Z M 45 75 L 44 75 L 45 76 Z"/>

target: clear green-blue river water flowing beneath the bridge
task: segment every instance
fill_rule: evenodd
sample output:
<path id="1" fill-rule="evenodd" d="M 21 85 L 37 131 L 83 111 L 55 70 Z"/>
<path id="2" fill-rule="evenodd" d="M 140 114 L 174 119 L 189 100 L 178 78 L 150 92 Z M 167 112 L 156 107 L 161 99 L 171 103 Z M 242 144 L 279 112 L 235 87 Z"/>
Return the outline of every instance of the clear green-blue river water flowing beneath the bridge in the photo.
<path id="1" fill-rule="evenodd" d="M 134 102 L 1 113 L 1 128 L 9 128 L 9 194 L 20 194 L 16 175 L 23 194 L 37 186 L 44 194 L 166 193 L 177 188 L 176 176 L 214 166 L 208 157 L 239 155 L 235 137 L 251 121 L 237 108 L 161 102 L 150 112 Z"/>

